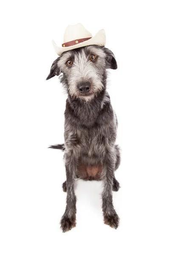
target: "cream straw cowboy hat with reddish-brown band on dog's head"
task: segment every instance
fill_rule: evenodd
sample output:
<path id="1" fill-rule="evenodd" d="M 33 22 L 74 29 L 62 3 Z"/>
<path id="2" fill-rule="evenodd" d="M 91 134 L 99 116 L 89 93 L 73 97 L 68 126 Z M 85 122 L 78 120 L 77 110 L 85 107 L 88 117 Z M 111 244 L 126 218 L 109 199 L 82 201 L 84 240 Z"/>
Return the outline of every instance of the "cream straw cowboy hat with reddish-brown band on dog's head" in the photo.
<path id="1" fill-rule="evenodd" d="M 63 52 L 76 49 L 79 47 L 84 47 L 88 45 L 99 45 L 105 46 L 106 43 L 106 35 L 105 30 L 101 29 L 95 36 L 92 36 L 91 33 L 82 26 L 81 23 L 76 25 L 68 25 L 65 29 L 64 33 L 64 43 L 62 47 L 57 46 L 54 40 L 52 40 L 52 44 L 54 46 L 55 51 L 58 55 L 61 55 Z"/>

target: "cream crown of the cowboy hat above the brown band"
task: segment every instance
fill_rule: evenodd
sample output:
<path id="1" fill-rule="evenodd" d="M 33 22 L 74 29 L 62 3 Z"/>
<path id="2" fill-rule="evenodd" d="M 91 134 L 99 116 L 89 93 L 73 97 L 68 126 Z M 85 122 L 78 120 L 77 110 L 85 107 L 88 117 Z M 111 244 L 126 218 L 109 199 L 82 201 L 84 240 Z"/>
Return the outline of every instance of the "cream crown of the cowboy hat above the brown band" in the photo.
<path id="1" fill-rule="evenodd" d="M 92 34 L 85 27 L 78 23 L 76 25 L 68 25 L 64 33 L 64 43 L 74 41 L 81 38 L 91 38 Z"/>

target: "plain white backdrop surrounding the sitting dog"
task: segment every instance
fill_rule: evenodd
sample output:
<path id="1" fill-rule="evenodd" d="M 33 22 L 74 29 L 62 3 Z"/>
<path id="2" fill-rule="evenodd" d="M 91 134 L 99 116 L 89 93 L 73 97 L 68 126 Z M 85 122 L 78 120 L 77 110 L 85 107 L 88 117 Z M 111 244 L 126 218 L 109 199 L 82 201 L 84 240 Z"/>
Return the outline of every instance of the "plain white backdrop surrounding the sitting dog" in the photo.
<path id="1" fill-rule="evenodd" d="M 103 224 L 100 182 L 77 181 L 77 227 L 62 233 L 66 95 L 45 81 L 68 24 L 105 29 L 118 63 L 108 91 L 119 128 L 117 230 Z M 170 34 L 165 0 L 2 1 L 0 255 L 170 255 Z"/>

